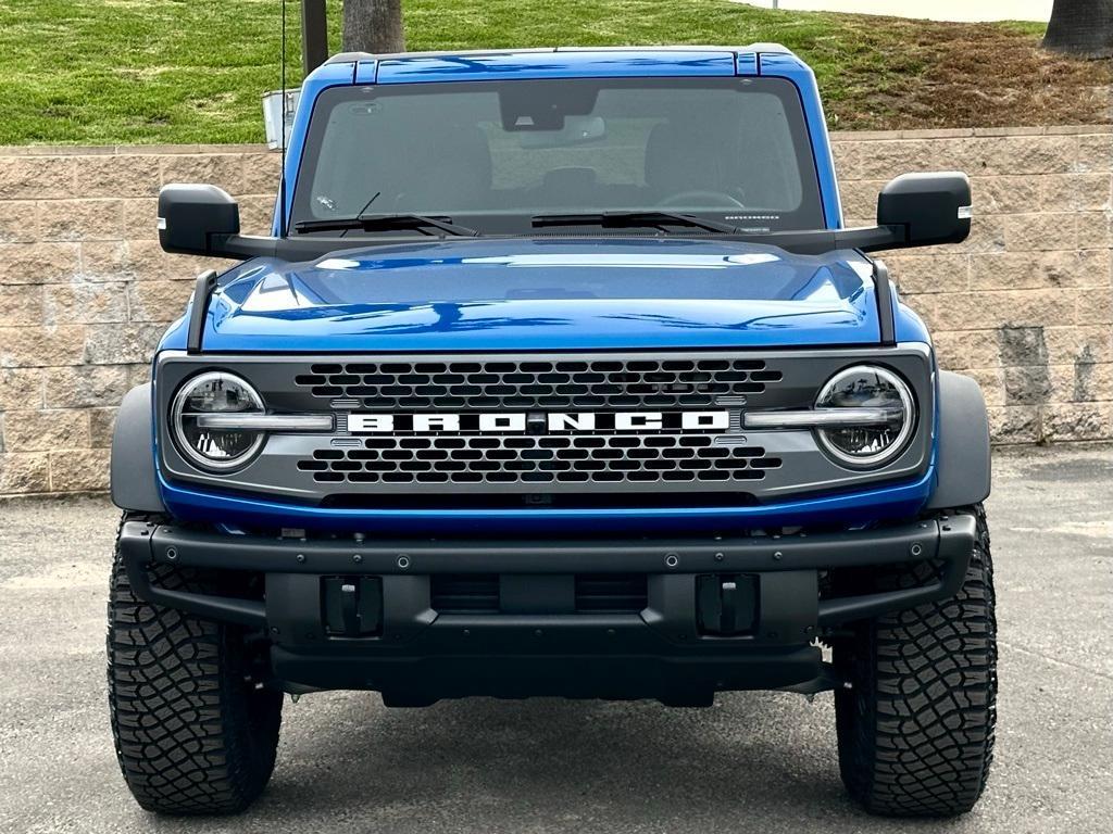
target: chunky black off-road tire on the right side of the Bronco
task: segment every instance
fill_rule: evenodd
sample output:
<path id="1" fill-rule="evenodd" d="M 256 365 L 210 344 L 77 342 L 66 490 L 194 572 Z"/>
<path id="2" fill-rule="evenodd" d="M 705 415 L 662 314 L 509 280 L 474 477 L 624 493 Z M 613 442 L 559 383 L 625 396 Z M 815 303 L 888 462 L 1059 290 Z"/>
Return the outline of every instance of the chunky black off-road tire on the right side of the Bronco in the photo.
<path id="1" fill-rule="evenodd" d="M 866 810 L 892 816 L 951 816 L 974 807 L 993 761 L 997 694 L 989 532 L 977 539 L 958 594 L 885 615 L 835 645 L 848 689 L 836 692 L 839 768 Z M 919 584 L 920 566 L 875 579 Z"/>

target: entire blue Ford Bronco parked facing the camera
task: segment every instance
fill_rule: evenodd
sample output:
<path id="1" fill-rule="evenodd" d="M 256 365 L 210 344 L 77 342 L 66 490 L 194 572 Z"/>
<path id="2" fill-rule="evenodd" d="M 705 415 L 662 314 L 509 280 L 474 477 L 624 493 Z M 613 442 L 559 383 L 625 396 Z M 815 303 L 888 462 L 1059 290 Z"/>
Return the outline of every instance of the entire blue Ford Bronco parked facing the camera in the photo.
<path id="1" fill-rule="evenodd" d="M 124 399 L 111 722 L 145 808 L 234 813 L 283 694 L 833 692 L 869 811 L 985 785 L 989 440 L 869 252 L 969 234 L 962 173 L 845 228 L 776 44 L 338 54 L 272 234 L 159 197 L 196 282 Z M 662 752 L 663 754 L 663 752 Z"/>

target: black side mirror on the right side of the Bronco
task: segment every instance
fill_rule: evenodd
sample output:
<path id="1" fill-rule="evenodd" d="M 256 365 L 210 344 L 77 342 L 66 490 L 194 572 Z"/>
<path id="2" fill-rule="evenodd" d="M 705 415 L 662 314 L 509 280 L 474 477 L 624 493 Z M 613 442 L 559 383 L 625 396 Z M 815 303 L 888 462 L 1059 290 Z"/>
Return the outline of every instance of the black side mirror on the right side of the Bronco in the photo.
<path id="1" fill-rule="evenodd" d="M 961 244 L 971 234 L 971 181 L 965 173 L 906 173 L 877 196 L 877 225 L 906 229 L 904 246 Z"/>

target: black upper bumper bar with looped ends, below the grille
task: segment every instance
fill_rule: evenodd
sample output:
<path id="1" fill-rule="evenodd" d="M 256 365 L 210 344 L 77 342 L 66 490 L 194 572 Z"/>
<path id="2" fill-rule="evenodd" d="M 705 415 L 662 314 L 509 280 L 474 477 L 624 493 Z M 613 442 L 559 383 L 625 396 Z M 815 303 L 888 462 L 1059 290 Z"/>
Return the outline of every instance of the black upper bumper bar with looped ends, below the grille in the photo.
<path id="1" fill-rule="evenodd" d="M 150 562 L 284 575 L 429 576 L 434 574 L 810 573 L 907 562 L 943 563 L 938 580 L 915 588 L 821 600 L 818 623 L 834 625 L 953 596 L 974 547 L 973 516 L 812 535 L 687 539 L 338 539 L 228 536 L 173 525 L 129 522 L 121 548 L 140 598 L 201 616 L 262 625 L 262 604 L 166 590 L 146 579 Z M 308 578 L 308 577 L 307 577 Z M 815 604 L 812 597 L 812 605 Z M 772 613 L 772 610 L 770 610 Z"/>

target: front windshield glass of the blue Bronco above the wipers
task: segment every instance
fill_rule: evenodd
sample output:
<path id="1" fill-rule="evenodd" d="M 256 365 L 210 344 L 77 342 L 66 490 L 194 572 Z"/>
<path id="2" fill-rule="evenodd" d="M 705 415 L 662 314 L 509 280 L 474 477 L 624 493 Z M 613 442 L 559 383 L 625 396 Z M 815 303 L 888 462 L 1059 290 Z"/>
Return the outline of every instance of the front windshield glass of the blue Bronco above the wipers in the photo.
<path id="1" fill-rule="evenodd" d="M 536 234 L 539 217 L 604 211 L 687 214 L 754 234 L 823 228 L 796 88 L 771 78 L 334 88 L 314 108 L 292 220 L 406 214 Z"/>

